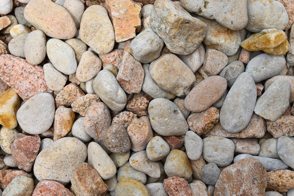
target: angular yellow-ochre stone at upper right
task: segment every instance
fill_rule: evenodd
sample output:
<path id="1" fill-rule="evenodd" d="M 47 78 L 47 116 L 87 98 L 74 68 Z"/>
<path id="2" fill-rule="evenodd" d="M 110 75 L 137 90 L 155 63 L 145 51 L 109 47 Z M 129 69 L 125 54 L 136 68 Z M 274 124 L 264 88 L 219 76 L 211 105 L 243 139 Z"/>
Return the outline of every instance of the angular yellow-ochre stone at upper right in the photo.
<path id="1" fill-rule="evenodd" d="M 287 35 L 282 30 L 264 29 L 255 33 L 241 42 L 240 46 L 248 51 L 272 49 L 287 40 Z"/>

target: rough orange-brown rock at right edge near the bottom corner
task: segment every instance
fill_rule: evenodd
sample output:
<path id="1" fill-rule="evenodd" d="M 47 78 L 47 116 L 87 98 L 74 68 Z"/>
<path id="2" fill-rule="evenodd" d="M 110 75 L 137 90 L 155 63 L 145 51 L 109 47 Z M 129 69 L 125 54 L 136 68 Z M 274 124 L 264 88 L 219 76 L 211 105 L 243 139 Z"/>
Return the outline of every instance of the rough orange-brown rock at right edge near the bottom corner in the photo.
<path id="1" fill-rule="evenodd" d="M 291 170 L 270 171 L 267 175 L 266 191 L 285 192 L 294 188 L 294 172 Z"/>

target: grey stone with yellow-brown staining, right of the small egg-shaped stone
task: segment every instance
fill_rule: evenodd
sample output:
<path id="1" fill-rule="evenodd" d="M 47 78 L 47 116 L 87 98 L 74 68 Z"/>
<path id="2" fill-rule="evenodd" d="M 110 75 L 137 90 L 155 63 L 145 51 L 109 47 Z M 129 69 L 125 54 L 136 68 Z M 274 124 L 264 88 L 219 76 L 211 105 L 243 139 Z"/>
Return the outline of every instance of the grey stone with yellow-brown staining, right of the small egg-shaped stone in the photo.
<path id="1" fill-rule="evenodd" d="M 192 176 L 192 166 L 187 155 L 178 149 L 173 149 L 166 157 L 164 171 L 168 177 L 178 176 L 188 180 Z"/>

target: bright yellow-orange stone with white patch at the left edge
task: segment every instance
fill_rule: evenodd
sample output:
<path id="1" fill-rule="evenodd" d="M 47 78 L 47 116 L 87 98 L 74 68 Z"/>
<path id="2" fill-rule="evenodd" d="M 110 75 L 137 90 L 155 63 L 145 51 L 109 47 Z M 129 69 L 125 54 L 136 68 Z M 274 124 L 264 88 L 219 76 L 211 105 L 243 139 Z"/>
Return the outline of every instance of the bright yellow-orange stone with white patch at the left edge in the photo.
<path id="1" fill-rule="evenodd" d="M 12 88 L 0 94 L 0 124 L 13 129 L 17 126 L 16 112 L 19 109 L 20 98 Z"/>

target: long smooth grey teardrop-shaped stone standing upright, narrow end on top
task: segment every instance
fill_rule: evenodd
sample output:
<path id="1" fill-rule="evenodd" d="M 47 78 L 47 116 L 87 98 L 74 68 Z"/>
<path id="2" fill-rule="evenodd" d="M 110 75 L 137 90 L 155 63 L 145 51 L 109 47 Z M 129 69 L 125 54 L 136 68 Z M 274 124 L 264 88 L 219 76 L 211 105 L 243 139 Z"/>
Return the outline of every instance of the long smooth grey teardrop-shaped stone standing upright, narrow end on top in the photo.
<path id="1" fill-rule="evenodd" d="M 238 133 L 249 123 L 257 97 L 250 73 L 243 72 L 230 88 L 220 110 L 220 124 L 230 133 Z"/>

